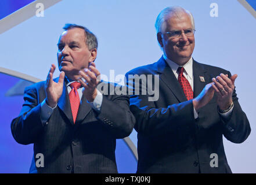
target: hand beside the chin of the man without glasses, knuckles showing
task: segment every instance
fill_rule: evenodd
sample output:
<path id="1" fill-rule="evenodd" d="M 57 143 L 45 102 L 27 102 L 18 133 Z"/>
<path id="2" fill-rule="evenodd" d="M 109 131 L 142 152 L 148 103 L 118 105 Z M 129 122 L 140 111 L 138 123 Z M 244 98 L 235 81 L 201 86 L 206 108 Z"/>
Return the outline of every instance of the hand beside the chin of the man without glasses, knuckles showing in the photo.
<path id="1" fill-rule="evenodd" d="M 84 95 L 85 98 L 89 102 L 93 102 L 97 95 L 97 85 L 99 83 L 99 75 L 100 72 L 98 69 L 96 69 L 95 63 L 91 62 L 91 65 L 89 65 L 89 69 L 81 70 L 80 77 L 77 79 L 84 87 Z"/>

